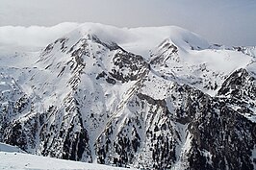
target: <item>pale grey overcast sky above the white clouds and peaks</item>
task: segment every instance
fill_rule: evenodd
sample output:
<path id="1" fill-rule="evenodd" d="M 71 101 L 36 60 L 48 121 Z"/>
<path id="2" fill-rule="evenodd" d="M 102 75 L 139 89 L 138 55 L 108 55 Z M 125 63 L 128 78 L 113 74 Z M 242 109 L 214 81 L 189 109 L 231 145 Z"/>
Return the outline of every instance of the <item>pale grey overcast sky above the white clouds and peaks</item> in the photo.
<path id="1" fill-rule="evenodd" d="M 0 26 L 61 22 L 176 25 L 212 43 L 256 45 L 256 0 L 0 0 Z"/>

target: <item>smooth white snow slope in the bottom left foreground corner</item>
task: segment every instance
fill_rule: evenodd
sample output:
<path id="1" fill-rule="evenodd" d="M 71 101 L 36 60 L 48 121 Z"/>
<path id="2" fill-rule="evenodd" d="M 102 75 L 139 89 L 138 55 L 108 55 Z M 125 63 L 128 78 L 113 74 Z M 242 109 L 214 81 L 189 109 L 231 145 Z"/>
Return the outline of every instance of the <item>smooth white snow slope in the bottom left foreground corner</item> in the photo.
<path id="1" fill-rule="evenodd" d="M 106 165 L 76 162 L 58 158 L 45 158 L 20 153 L 20 149 L 0 143 L 0 169 L 30 170 L 125 170 Z"/>

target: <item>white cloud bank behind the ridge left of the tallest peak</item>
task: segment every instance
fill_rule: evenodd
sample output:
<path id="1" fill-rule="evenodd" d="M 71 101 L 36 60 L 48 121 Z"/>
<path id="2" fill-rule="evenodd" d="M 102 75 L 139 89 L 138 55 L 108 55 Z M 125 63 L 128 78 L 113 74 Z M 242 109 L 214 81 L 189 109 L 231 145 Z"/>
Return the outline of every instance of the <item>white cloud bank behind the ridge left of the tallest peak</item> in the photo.
<path id="1" fill-rule="evenodd" d="M 0 50 L 31 50 L 37 51 L 76 29 L 77 23 L 62 23 L 53 27 L 43 26 L 3 26 L 0 27 Z"/>

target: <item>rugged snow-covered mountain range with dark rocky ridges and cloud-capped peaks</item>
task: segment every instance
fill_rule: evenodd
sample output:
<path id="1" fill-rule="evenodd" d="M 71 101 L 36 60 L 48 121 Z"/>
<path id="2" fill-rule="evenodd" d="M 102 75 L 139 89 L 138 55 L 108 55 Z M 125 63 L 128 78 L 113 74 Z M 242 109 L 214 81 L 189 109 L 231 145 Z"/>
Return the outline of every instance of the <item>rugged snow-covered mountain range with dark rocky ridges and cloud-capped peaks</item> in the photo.
<path id="1" fill-rule="evenodd" d="M 60 27 L 27 29 L 47 42 Z M 26 28 L 1 41 L 1 142 L 120 167 L 256 169 L 255 47 L 178 27 L 63 27 L 39 51 Z"/>

